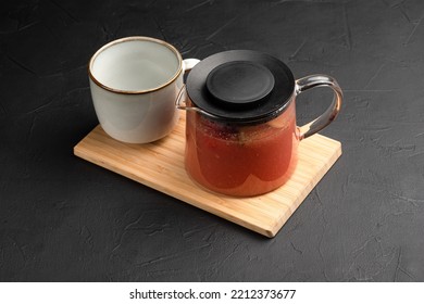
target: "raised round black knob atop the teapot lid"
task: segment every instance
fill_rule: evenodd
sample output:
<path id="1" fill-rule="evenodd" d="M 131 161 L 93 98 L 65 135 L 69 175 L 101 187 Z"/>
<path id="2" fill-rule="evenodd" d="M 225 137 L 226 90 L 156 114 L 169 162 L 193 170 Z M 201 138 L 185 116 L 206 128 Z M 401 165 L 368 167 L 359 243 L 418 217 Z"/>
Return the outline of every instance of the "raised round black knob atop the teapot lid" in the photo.
<path id="1" fill-rule="evenodd" d="M 246 109 L 264 100 L 275 79 L 265 66 L 250 61 L 230 61 L 214 67 L 207 77 L 208 91 L 222 105 Z"/>

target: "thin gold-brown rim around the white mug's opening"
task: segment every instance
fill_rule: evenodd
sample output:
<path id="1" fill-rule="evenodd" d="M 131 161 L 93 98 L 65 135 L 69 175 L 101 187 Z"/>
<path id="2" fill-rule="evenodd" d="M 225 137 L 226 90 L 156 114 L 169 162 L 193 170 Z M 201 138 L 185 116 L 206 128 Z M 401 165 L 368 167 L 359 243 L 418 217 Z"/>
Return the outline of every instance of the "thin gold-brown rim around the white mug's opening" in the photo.
<path id="1" fill-rule="evenodd" d="M 147 90 L 139 90 L 139 91 L 132 91 L 132 90 L 120 90 L 120 89 L 115 89 L 115 88 L 111 88 L 111 87 L 108 87 L 105 85 L 103 85 L 102 83 L 100 83 L 96 77 L 95 75 L 91 73 L 91 66 L 96 60 L 96 58 L 102 52 L 104 51 L 105 49 L 114 46 L 114 45 L 117 45 L 117 43 L 122 43 L 122 42 L 126 42 L 126 41 L 151 41 L 151 42 L 155 42 L 155 43 L 159 43 L 159 45 L 162 45 L 162 46 L 165 46 L 166 48 L 169 48 L 178 59 L 178 69 L 177 72 L 175 73 L 175 75 L 170 79 L 167 80 L 166 83 L 162 84 L 161 86 L 159 87 L 154 87 L 154 88 L 151 88 L 151 89 L 147 89 Z M 163 40 L 160 40 L 160 39 L 157 39 L 157 38 L 151 38 L 151 37 L 146 37 L 146 36 L 132 36 L 132 37 L 125 37 L 125 38 L 121 38 L 121 39 L 116 39 L 116 40 L 113 40 L 107 45 L 104 45 L 103 47 L 101 47 L 90 59 L 89 63 L 88 63 L 88 75 L 89 77 L 92 79 L 92 81 L 95 81 L 99 87 L 108 90 L 108 91 L 111 91 L 111 92 L 114 92 L 114 93 L 122 93 L 122 94 L 142 94 L 142 93 L 148 93 L 148 92 L 153 92 L 153 91 L 157 91 L 157 90 L 160 90 L 169 85 L 171 85 L 178 76 L 179 74 L 182 73 L 183 71 L 183 58 L 182 55 L 179 54 L 178 50 L 175 49 L 174 46 L 163 41 Z"/>

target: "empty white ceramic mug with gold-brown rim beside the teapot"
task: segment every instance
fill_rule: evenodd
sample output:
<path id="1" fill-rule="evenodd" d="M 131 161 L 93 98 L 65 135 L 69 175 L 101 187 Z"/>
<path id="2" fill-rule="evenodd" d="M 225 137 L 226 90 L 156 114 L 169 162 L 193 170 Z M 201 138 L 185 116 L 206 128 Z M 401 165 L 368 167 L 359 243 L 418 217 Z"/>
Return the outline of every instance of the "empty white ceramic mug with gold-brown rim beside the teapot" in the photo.
<path id="1" fill-rule="evenodd" d="M 175 101 L 184 72 L 198 60 L 184 60 L 170 43 L 126 37 L 100 48 L 88 65 L 91 98 L 103 130 L 129 143 L 163 138 L 176 125 Z"/>

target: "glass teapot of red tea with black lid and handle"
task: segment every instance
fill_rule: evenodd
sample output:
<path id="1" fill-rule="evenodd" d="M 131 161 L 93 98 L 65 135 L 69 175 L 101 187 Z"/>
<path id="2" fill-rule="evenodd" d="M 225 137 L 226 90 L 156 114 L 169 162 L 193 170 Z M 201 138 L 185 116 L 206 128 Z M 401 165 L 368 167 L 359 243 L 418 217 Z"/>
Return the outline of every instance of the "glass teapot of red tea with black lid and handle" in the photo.
<path id="1" fill-rule="evenodd" d="M 299 128 L 296 97 L 314 87 L 333 89 L 333 102 Z M 332 123 L 341 102 L 341 89 L 329 76 L 295 80 L 280 60 L 255 51 L 213 54 L 192 67 L 177 98 L 177 107 L 187 112 L 186 170 L 214 192 L 270 192 L 296 169 L 299 142 Z"/>

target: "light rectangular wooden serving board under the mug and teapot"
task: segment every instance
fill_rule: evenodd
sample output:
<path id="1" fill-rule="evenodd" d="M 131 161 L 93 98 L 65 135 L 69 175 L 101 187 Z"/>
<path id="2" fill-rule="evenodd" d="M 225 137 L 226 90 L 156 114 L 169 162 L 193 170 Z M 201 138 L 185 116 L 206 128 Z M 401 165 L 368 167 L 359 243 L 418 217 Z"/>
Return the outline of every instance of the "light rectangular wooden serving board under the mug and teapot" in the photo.
<path id="1" fill-rule="evenodd" d="M 299 144 L 298 165 L 283 187 L 253 198 L 209 192 L 184 167 L 185 113 L 174 131 L 153 143 L 116 141 L 97 126 L 74 154 L 266 237 L 274 237 L 341 155 L 340 142 L 314 135 Z"/>

